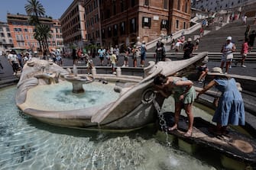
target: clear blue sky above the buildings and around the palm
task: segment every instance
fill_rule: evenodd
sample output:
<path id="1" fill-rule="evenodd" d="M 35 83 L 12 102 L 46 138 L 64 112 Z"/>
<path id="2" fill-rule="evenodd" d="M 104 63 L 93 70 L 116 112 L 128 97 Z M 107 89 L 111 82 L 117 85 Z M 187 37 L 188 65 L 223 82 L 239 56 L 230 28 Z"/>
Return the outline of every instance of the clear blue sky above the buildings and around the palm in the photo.
<path id="1" fill-rule="evenodd" d="M 6 21 L 7 13 L 26 14 L 24 6 L 28 0 L 0 0 L 0 21 Z M 71 5 L 73 0 L 39 0 L 44 6 L 45 14 L 53 19 L 59 19 L 66 9 Z"/>

